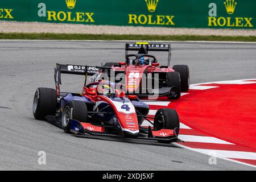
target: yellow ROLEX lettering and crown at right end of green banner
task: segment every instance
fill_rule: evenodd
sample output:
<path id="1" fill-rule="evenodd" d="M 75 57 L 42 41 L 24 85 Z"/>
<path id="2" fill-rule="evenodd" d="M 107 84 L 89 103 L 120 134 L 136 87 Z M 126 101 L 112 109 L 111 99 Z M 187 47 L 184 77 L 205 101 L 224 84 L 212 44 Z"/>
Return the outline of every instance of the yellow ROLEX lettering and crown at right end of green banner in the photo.
<path id="1" fill-rule="evenodd" d="M 251 17 L 236 16 L 236 9 L 239 4 L 235 0 L 225 0 L 222 8 L 226 11 L 226 16 L 208 16 L 208 27 L 254 27 Z"/>

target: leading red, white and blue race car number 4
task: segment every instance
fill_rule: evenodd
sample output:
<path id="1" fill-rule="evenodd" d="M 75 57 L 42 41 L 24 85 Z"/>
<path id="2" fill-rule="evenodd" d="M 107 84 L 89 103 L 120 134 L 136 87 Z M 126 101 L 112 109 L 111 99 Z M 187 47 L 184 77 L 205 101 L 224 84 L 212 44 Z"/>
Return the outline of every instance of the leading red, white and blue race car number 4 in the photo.
<path id="1" fill-rule="evenodd" d="M 60 92 L 61 73 L 84 75 L 82 93 Z M 93 75 L 86 84 L 87 76 Z M 100 80 L 97 67 L 57 64 L 55 86 L 36 89 L 35 119 L 47 119 L 66 133 L 179 142 L 179 116 L 174 109 L 159 109 L 148 117 L 149 107 L 137 96 L 116 89 L 116 83 Z M 154 127 L 143 127 L 146 119 Z"/>

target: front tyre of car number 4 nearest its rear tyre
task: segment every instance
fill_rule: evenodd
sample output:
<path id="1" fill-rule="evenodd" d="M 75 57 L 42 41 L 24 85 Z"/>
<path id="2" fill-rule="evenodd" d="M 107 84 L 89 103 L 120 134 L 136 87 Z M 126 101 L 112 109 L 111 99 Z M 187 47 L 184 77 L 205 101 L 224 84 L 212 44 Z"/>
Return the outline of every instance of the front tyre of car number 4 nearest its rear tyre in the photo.
<path id="1" fill-rule="evenodd" d="M 61 125 L 65 133 L 70 133 L 71 119 L 75 119 L 79 122 L 86 122 L 87 107 L 84 102 L 69 101 L 67 105 L 65 105 L 63 112 L 61 113 Z"/>

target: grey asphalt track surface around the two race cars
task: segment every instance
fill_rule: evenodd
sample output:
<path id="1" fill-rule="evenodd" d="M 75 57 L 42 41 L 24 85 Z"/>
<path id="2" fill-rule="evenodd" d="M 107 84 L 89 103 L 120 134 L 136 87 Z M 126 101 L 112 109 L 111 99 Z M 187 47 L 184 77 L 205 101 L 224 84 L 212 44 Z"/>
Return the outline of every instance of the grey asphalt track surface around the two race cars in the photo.
<path id="1" fill-rule="evenodd" d="M 99 65 L 124 59 L 124 43 L 0 41 L 0 169 L 255 170 L 173 144 L 134 139 L 77 138 L 32 115 L 36 88 L 54 88 L 56 63 Z M 171 64 L 188 64 L 191 84 L 256 77 L 256 44 L 172 43 Z M 167 55 L 155 54 L 162 64 Z M 81 91 L 83 77 L 63 76 Z M 239 93 L 238 93 L 238 97 Z M 46 165 L 38 152 L 46 152 Z"/>

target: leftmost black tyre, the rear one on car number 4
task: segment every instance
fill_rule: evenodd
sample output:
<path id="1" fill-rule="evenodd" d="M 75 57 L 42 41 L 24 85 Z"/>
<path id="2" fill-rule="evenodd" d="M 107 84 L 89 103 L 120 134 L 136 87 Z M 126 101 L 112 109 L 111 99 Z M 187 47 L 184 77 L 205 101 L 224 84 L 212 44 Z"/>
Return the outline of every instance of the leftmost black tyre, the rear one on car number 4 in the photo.
<path id="1" fill-rule="evenodd" d="M 55 89 L 38 88 L 33 101 L 33 115 L 35 119 L 44 120 L 47 115 L 55 115 L 57 96 Z"/>

